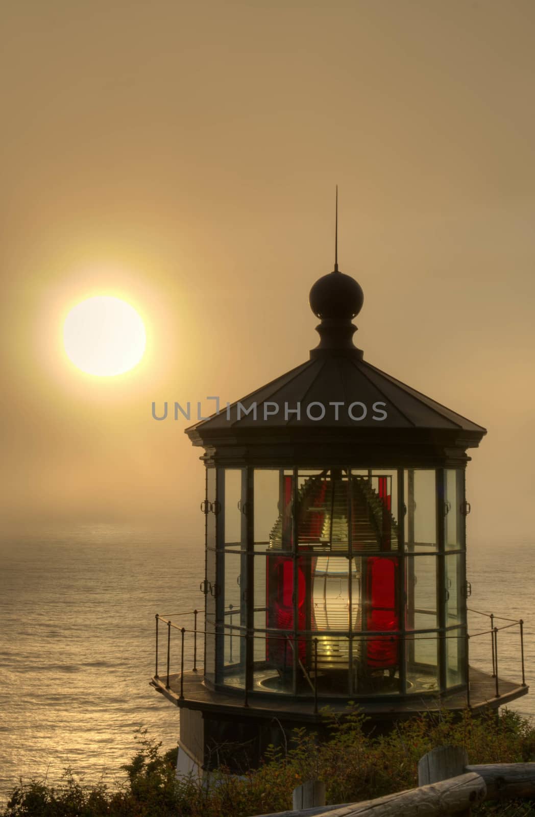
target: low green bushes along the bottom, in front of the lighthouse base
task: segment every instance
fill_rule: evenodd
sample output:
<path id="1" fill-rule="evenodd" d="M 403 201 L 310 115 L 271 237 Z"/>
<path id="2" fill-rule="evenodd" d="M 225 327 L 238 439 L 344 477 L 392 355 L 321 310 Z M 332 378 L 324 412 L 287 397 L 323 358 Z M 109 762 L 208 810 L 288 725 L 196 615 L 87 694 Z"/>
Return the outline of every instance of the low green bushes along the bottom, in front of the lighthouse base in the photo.
<path id="1" fill-rule="evenodd" d="M 470 763 L 535 760 L 535 726 L 515 712 L 504 711 L 496 720 L 466 711 L 458 721 L 443 712 L 438 720 L 413 718 L 382 736 L 365 734 L 356 707 L 343 720 L 325 714 L 332 724 L 328 742 L 296 730 L 285 750 L 270 748 L 259 770 L 239 779 L 223 769 L 208 786 L 193 776 L 177 781 L 176 748 L 162 752 L 162 744 L 140 730 L 136 754 L 123 766 L 123 784 L 86 786 L 71 770 L 57 786 L 21 781 L 0 817 L 248 817 L 291 808 L 292 789 L 310 778 L 325 781 L 329 803 L 412 788 L 417 761 L 436 746 L 464 746 Z M 535 803 L 489 803 L 476 813 L 535 817 Z"/>

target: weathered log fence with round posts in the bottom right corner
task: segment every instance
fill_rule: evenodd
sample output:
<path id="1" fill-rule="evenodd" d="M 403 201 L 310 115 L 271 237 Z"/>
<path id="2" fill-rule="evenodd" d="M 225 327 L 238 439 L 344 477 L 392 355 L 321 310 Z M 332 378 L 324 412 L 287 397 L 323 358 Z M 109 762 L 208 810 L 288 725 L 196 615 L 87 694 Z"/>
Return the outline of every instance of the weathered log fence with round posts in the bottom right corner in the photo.
<path id="1" fill-rule="evenodd" d="M 322 791 L 308 781 L 294 791 L 294 805 L 304 792 Z M 447 817 L 469 815 L 484 800 L 535 798 L 535 763 L 469 766 L 464 749 L 440 747 L 418 763 L 418 788 L 360 803 L 315 806 L 259 817 Z"/>

